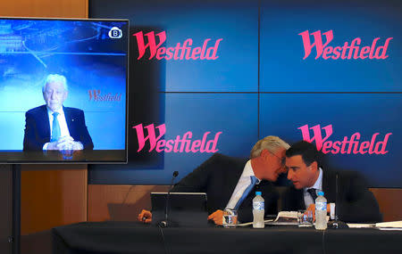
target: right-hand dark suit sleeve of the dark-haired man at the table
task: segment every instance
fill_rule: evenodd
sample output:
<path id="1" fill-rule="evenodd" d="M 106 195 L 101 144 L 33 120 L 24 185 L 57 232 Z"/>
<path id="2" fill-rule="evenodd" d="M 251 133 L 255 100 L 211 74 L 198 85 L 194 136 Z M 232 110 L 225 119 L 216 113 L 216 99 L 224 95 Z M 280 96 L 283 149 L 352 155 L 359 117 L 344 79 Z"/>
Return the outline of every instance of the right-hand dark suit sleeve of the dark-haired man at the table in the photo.
<path id="1" fill-rule="evenodd" d="M 377 201 L 362 176 L 355 173 L 339 177 L 340 201 L 336 202 L 336 213 L 345 222 L 373 223 L 382 220 Z"/>

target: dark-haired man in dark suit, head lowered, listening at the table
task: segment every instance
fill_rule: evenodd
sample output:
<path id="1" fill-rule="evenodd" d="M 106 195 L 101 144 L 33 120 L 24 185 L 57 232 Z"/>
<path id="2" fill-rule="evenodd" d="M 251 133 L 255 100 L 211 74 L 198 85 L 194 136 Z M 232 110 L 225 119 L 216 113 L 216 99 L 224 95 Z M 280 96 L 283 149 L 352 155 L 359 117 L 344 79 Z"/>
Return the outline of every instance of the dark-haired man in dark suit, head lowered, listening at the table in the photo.
<path id="1" fill-rule="evenodd" d="M 282 210 L 310 209 L 314 214 L 316 195 L 322 191 L 331 217 L 334 217 L 336 210 L 339 220 L 345 222 L 381 221 L 378 203 L 361 175 L 353 171 L 323 169 L 319 161 L 320 152 L 313 143 L 301 141 L 289 148 L 286 152 L 286 169 L 293 186 L 284 194 Z"/>

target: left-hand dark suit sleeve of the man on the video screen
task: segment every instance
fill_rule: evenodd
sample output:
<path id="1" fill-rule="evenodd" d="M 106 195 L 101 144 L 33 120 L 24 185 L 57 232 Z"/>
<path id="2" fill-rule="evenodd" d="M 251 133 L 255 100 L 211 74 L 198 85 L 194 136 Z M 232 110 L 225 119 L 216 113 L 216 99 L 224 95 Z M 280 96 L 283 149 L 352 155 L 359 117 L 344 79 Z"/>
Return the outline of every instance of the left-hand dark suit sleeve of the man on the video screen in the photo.
<path id="1" fill-rule="evenodd" d="M 25 131 L 23 151 L 40 151 L 46 141 L 37 136 L 37 120 L 29 111 L 25 113 Z"/>

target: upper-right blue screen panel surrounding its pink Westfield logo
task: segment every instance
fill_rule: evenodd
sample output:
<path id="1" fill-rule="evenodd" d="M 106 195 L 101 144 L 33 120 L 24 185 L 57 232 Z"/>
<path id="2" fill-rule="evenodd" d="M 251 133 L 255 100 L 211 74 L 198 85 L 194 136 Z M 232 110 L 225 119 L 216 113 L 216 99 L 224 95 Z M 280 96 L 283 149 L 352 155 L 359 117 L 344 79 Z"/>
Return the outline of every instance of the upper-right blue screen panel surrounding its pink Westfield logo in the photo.
<path id="1" fill-rule="evenodd" d="M 402 91 L 402 2 L 401 1 L 262 1 L 261 76 L 263 92 Z M 315 60 L 315 48 L 305 57 L 302 37 L 308 30 L 332 30 L 329 45 L 350 45 L 356 37 L 361 46 L 384 45 L 384 60 Z M 310 36 L 314 43 L 313 36 Z M 326 42 L 322 35 L 322 41 Z"/>

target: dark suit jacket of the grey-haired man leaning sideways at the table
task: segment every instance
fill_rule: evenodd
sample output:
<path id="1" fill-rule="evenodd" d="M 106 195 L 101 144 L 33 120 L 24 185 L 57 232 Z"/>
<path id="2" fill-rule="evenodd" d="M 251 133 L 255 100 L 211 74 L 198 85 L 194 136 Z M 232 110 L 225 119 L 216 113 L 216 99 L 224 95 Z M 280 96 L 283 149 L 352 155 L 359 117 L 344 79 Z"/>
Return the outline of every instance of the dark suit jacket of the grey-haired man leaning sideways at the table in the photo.
<path id="1" fill-rule="evenodd" d="M 181 179 L 178 184 L 175 184 L 172 192 L 206 193 L 208 213 L 211 214 L 217 209 L 225 209 L 246 163 L 247 160 L 215 153 L 192 173 Z M 255 191 L 262 192 L 266 215 L 278 213 L 278 193 L 276 193 L 271 182 L 263 180 L 260 184 L 255 185 L 241 203 L 238 210 L 239 221 L 241 222 L 253 220 L 252 200 L 255 197 Z"/>

